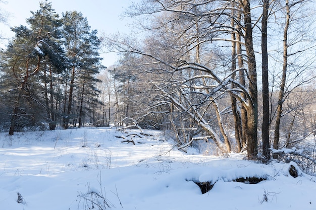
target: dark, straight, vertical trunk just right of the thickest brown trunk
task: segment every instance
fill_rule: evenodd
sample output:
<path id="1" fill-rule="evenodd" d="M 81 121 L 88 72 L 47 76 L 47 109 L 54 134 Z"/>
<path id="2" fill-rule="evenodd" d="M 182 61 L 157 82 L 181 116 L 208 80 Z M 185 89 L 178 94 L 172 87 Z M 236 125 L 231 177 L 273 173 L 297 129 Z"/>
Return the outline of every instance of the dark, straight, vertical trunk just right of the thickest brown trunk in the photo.
<path id="1" fill-rule="evenodd" d="M 261 51 L 262 51 L 262 155 L 265 160 L 270 159 L 270 108 L 269 108 L 269 68 L 268 68 L 268 11 L 269 0 L 263 0 L 264 9 L 262 12 L 261 24 Z"/>

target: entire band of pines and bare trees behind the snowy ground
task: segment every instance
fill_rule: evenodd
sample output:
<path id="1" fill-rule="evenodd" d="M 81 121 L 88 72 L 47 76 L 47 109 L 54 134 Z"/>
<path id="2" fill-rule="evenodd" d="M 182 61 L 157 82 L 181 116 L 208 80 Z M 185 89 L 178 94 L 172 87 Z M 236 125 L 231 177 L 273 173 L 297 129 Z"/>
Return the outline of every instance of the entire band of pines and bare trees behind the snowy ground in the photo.
<path id="1" fill-rule="evenodd" d="M 263 162 L 304 149 L 290 155 L 315 173 L 313 5 L 143 0 L 124 13 L 132 35 L 109 35 L 45 0 L 1 51 L 0 128 L 160 130 L 182 151 L 204 142 Z M 120 54 L 114 66 L 104 51 Z"/>

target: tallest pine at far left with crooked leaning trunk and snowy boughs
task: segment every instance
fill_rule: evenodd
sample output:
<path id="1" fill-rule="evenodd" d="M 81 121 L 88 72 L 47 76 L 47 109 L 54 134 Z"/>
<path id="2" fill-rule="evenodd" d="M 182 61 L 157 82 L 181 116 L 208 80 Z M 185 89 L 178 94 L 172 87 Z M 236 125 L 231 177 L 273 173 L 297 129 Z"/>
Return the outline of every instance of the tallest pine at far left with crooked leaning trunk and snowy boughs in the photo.
<path id="1" fill-rule="evenodd" d="M 57 72 L 65 68 L 63 48 L 58 43 L 61 38 L 58 15 L 46 0 L 40 3 L 40 9 L 37 12 L 31 13 L 32 16 L 27 19 L 30 29 L 22 25 L 12 28 L 15 38 L 5 52 L 6 74 L 14 79 L 15 83 L 12 85 L 13 90 L 16 90 L 12 91 L 15 101 L 10 135 L 14 134 L 16 122 L 20 117 L 34 119 L 41 114 L 36 107 L 48 109 L 41 100 L 41 91 L 37 90 L 41 86 L 40 76 L 44 75 L 43 72 L 48 69 L 48 66 Z M 28 103 L 23 102 L 25 100 Z M 26 104 L 30 107 L 26 108 Z M 34 113 L 28 113 L 28 111 Z"/>

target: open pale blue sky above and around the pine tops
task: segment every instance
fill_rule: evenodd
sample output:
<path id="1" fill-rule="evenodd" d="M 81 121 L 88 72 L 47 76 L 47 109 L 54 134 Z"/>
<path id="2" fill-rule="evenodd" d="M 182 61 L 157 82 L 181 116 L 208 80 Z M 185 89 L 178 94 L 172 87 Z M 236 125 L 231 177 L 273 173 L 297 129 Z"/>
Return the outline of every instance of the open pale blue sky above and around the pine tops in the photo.
<path id="1" fill-rule="evenodd" d="M 31 16 L 30 11 L 39 10 L 41 0 L 4 0 L 0 4 L 3 11 L 10 13 L 8 25 L 1 24 L 0 31 L 5 38 L 12 38 L 10 26 L 25 25 L 25 19 Z M 101 33 L 129 32 L 131 21 L 122 18 L 122 13 L 131 4 L 131 0 L 50 0 L 52 8 L 62 15 L 66 11 L 81 12 L 87 18 L 92 30 Z M 0 46 L 4 48 L 6 40 L 1 40 Z M 115 53 L 101 53 L 102 63 L 107 67 L 113 65 L 118 59 Z"/>

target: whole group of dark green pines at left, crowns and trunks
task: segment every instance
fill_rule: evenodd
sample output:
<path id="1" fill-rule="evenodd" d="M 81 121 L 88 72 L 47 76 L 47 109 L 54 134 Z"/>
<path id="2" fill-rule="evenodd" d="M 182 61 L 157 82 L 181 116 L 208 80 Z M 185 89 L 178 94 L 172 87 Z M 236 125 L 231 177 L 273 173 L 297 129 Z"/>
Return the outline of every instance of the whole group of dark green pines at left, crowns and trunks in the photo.
<path id="1" fill-rule="evenodd" d="M 0 103 L 1 129 L 83 124 L 87 104 L 97 103 L 103 68 L 97 31 L 76 11 L 60 18 L 47 0 L 26 22 L 12 27 L 15 36 L 1 52 L 0 93 L 7 99 Z"/>

